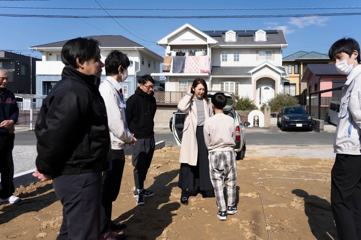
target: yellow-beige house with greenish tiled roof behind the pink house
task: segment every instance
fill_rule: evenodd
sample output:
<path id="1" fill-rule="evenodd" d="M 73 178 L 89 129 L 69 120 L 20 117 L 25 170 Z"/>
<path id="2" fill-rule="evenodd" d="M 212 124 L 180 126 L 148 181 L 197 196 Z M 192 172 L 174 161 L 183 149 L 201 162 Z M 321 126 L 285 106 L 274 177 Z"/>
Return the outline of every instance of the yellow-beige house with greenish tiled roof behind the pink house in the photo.
<path id="1" fill-rule="evenodd" d="M 306 83 L 301 82 L 303 74 L 305 73 L 307 64 L 322 63 L 333 64 L 328 54 L 298 51 L 282 59 L 283 66 L 287 68 L 289 77 L 288 83 L 285 84 L 285 92 L 291 95 L 298 95 L 304 89 L 307 89 Z"/>

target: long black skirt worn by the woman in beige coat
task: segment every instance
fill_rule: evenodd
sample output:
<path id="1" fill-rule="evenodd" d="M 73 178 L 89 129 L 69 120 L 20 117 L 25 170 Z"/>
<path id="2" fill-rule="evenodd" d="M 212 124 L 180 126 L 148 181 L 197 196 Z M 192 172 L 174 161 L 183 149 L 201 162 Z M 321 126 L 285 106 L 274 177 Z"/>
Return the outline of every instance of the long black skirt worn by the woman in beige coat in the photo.
<path id="1" fill-rule="evenodd" d="M 178 187 L 180 189 L 200 190 L 213 189 L 209 176 L 208 149 L 204 143 L 203 126 L 197 126 L 196 138 L 198 145 L 197 166 L 181 163 Z"/>

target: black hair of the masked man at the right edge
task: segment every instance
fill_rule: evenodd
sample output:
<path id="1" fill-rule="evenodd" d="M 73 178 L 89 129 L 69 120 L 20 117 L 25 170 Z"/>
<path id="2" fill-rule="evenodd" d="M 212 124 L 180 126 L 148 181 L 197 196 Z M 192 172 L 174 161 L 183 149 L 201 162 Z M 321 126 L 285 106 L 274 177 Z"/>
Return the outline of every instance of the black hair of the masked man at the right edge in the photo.
<path id="1" fill-rule="evenodd" d="M 342 39 L 337 40 L 334 44 L 332 44 L 329 50 L 329 58 L 334 61 L 336 55 L 340 53 L 346 53 L 348 54 L 348 56 L 351 57 L 353 51 L 355 50 L 358 53 L 357 62 L 361 63 L 360 45 L 355 39 L 344 37 Z"/>

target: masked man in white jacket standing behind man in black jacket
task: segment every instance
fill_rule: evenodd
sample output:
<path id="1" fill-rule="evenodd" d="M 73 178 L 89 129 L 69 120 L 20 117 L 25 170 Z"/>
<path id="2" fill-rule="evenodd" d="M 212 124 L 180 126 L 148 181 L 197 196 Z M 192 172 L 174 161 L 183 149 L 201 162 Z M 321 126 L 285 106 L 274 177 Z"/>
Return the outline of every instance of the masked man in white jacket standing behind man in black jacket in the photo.
<path id="1" fill-rule="evenodd" d="M 120 230 L 125 223 L 111 220 L 112 203 L 117 199 L 122 181 L 125 164 L 125 144 L 136 141 L 127 127 L 126 104 L 119 83 L 124 82 L 128 75 L 129 58 L 118 50 L 111 51 L 105 59 L 106 78 L 99 87 L 104 99 L 111 141 L 112 165 L 110 170 L 103 172 L 103 190 L 100 208 L 100 239 L 125 239 L 125 234 L 117 234 L 110 230 Z"/>

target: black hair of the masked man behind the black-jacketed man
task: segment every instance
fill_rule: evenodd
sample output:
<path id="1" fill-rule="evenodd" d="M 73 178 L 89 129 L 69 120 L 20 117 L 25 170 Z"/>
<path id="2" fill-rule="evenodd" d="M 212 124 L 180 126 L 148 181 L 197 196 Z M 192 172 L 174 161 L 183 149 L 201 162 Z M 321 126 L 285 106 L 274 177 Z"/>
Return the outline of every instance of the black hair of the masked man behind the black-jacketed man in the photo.
<path id="1" fill-rule="evenodd" d="M 129 58 L 119 50 L 112 50 L 105 59 L 106 76 L 117 75 L 119 73 L 118 68 L 120 65 L 123 67 L 123 69 L 129 67 Z"/>

